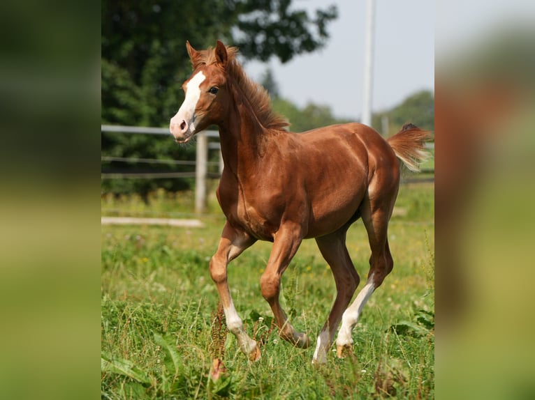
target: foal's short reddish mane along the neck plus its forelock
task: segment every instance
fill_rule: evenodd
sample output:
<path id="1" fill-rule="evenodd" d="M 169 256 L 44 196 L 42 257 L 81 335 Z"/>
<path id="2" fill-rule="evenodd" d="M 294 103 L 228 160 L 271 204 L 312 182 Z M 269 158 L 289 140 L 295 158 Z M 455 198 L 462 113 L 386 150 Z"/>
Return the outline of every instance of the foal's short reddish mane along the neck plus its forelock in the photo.
<path id="1" fill-rule="evenodd" d="M 249 105 L 251 105 L 251 109 L 253 109 L 258 122 L 267 129 L 284 130 L 284 128 L 290 124 L 286 118 L 283 118 L 273 111 L 268 91 L 245 75 L 242 66 L 236 59 L 236 54 L 238 52 L 237 47 L 226 46 L 226 51 L 228 61 L 225 71 L 230 77 L 233 77 L 237 86 L 249 101 Z M 193 65 L 193 70 L 196 70 L 199 66 L 210 66 L 217 63 L 214 49 L 208 47 L 208 49 L 200 50 L 197 52 L 196 56 L 191 59 L 191 63 Z"/>

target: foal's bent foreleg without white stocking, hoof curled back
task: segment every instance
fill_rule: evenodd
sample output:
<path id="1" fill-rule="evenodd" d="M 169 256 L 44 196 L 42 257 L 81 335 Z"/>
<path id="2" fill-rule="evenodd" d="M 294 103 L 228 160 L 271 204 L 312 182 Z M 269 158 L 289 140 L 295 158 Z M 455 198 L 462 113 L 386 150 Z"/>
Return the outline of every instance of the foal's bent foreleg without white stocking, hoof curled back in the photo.
<path id="1" fill-rule="evenodd" d="M 282 274 L 297 252 L 301 240 L 300 229 L 281 226 L 275 235 L 270 259 L 260 279 L 260 284 L 262 296 L 273 311 L 279 328 L 279 336 L 295 346 L 307 348 L 310 346 L 310 339 L 305 333 L 297 332 L 293 328 L 279 302 Z"/>

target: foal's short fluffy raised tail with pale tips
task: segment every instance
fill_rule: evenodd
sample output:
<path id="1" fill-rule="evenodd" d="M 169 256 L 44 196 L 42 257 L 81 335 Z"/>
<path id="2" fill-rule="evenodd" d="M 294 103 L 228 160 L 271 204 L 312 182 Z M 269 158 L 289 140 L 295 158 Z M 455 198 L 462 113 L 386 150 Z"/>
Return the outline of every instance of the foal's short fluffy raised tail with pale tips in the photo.
<path id="1" fill-rule="evenodd" d="M 420 164 L 430 157 L 425 151 L 425 142 L 430 141 L 431 133 L 421 130 L 416 125 L 406 123 L 394 136 L 386 139 L 395 155 L 411 171 L 420 171 Z"/>

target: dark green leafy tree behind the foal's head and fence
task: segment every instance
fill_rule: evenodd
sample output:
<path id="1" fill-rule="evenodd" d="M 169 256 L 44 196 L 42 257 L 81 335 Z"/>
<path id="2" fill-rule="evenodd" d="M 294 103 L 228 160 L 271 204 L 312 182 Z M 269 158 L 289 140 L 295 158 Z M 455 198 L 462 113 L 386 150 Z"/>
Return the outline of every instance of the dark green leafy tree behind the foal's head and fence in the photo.
<path id="1" fill-rule="evenodd" d="M 281 62 L 325 45 L 335 6 L 309 15 L 291 0 L 103 0 L 101 3 L 101 121 L 166 126 L 184 99 L 182 82 L 191 73 L 185 43 L 203 49 L 217 39 L 240 47 L 242 59 Z M 154 141 L 154 144 L 152 143 Z M 153 136 L 103 134 L 103 155 L 161 159 L 195 157 L 194 147 L 160 143 Z M 105 168 L 119 164 L 109 162 Z M 131 169 L 124 163 L 124 169 Z M 171 190 L 186 180 L 103 180 L 105 192 Z"/>

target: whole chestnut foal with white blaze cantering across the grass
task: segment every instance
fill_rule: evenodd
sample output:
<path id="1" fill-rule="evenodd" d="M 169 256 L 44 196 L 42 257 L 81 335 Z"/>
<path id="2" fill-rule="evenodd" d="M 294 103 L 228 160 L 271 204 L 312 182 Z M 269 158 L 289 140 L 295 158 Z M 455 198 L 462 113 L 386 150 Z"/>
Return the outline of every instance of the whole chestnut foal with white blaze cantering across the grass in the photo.
<path id="1" fill-rule="evenodd" d="M 256 240 L 273 243 L 260 279 L 279 335 L 306 348 L 279 302 L 281 276 L 301 241 L 315 238 L 335 278 L 337 294 L 318 335 L 312 362 L 327 361 L 336 340 L 337 355 L 351 351 L 351 330 L 365 302 L 393 268 L 387 229 L 400 185 L 400 162 L 417 170 L 425 157 L 428 132 L 407 124 L 385 140 L 360 123 L 332 125 L 295 134 L 274 114 L 268 93 L 252 82 L 236 60 L 237 49 L 220 41 L 197 51 L 186 43 L 193 74 L 184 82 L 184 103 L 170 120 L 170 132 L 186 143 L 209 125 L 219 126 L 224 169 L 217 199 L 226 224 L 210 261 L 226 324 L 243 353 L 261 357 L 245 332 L 227 282 L 227 266 Z M 346 231 L 361 217 L 369 238 L 367 282 L 348 307 L 360 278 L 346 248 Z"/>

